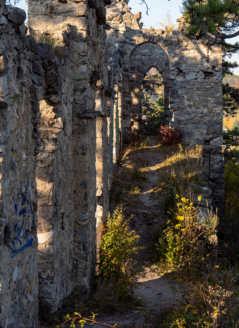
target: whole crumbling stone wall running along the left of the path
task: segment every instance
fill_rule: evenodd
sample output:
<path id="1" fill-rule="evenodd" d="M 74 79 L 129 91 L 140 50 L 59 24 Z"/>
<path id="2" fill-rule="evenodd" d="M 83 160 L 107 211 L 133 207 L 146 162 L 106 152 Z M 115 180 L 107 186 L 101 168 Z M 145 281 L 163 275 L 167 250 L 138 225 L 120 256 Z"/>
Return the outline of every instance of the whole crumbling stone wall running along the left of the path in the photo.
<path id="1" fill-rule="evenodd" d="M 48 4 L 29 1 L 32 27 L 52 20 L 55 9 Z M 113 133 L 108 137 L 114 92 L 102 4 L 69 5 L 74 18 L 64 31 L 68 52 L 58 58 L 49 45 L 21 33 L 22 10 L 1 2 L 1 101 L 7 106 L 1 117 L 3 326 L 36 326 L 37 267 L 39 302 L 51 311 L 73 288 L 82 293 L 92 286 L 96 217 L 108 214 L 114 143 Z"/>

